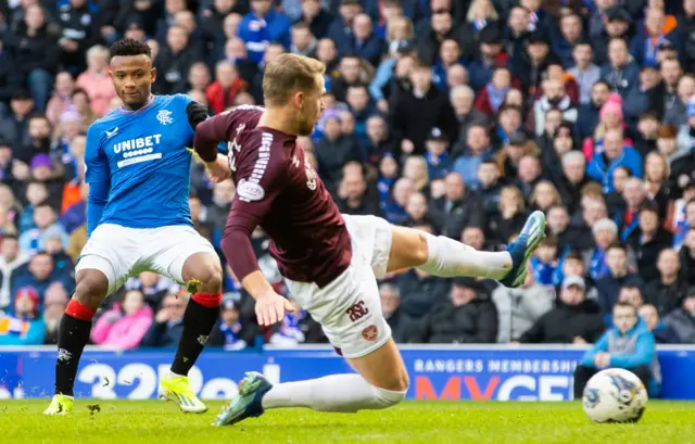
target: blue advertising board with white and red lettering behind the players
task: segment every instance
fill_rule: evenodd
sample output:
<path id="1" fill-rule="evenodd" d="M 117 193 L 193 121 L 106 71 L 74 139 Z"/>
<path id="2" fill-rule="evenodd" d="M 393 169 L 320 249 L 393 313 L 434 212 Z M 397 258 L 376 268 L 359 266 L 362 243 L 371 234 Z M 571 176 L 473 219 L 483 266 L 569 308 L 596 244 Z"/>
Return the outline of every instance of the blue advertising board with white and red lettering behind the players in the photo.
<path id="1" fill-rule="evenodd" d="M 572 398 L 572 371 L 580 347 L 405 346 L 410 399 L 565 401 Z M 173 350 L 113 352 L 89 348 L 75 383 L 80 397 L 156 397 Z M 53 394 L 56 352 L 50 347 L 0 347 L 0 398 Z M 662 397 L 695 399 L 695 347 L 659 350 Z M 263 371 L 273 382 L 351 372 L 328 347 L 224 352 L 207 350 L 190 372 L 203 398 L 229 398 L 244 371 Z"/>

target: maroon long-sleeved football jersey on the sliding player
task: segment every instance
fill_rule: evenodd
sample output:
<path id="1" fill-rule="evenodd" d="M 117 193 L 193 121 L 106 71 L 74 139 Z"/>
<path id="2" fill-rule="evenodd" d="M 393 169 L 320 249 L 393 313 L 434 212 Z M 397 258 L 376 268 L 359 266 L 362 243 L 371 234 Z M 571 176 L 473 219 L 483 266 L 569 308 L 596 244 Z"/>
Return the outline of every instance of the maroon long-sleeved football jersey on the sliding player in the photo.
<path id="1" fill-rule="evenodd" d="M 324 287 L 350 265 L 350 234 L 296 137 L 256 127 L 262 113 L 242 106 L 197 128 L 197 150 L 199 142 L 215 147 L 222 140 L 229 150 L 237 192 L 223 236 L 225 256 L 239 280 L 257 270 L 249 237 L 260 225 L 282 276 Z"/>

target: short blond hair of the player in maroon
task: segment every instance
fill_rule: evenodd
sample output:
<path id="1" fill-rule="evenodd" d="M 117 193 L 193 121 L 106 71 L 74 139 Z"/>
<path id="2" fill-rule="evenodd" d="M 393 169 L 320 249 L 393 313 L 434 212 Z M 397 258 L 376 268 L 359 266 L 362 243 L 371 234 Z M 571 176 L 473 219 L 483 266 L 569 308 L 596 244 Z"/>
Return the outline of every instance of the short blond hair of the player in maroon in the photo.
<path id="1" fill-rule="evenodd" d="M 298 54 L 280 54 L 269 62 L 263 75 L 263 100 L 266 106 L 281 106 L 293 92 L 317 88 L 316 76 L 326 66 L 316 59 Z"/>

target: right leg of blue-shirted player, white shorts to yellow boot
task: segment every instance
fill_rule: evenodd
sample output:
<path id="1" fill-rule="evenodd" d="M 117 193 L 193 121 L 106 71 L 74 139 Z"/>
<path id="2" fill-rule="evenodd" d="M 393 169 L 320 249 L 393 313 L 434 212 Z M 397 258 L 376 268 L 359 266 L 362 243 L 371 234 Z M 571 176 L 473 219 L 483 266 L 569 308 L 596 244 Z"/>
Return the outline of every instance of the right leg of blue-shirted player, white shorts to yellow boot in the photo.
<path id="1" fill-rule="evenodd" d="M 154 271 L 185 283 L 191 297 L 184 313 L 184 332 L 172 369 L 160 382 L 160 396 L 176 402 L 182 411 L 202 414 L 207 407 L 191 389 L 188 372 L 200 356 L 207 335 L 219 319 L 222 265 L 213 246 L 190 227 L 165 227 Z"/>

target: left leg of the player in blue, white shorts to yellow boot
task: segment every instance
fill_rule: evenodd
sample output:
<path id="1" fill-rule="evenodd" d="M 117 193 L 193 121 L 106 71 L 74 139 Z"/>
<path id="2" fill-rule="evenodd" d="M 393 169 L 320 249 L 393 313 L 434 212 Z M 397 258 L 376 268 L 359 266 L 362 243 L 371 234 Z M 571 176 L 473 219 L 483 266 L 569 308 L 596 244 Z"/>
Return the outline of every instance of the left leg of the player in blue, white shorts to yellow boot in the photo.
<path id="1" fill-rule="evenodd" d="M 92 318 L 104 299 L 123 284 L 129 274 L 129 262 L 117 244 L 128 241 L 119 232 L 121 227 L 98 227 L 83 249 L 76 271 L 76 286 L 58 333 L 58 360 L 55 361 L 55 395 L 46 415 L 64 415 L 73 408 L 73 386 L 83 351 L 89 341 Z M 118 239 L 114 242 L 113 239 Z"/>

